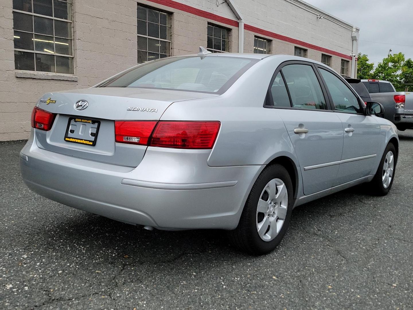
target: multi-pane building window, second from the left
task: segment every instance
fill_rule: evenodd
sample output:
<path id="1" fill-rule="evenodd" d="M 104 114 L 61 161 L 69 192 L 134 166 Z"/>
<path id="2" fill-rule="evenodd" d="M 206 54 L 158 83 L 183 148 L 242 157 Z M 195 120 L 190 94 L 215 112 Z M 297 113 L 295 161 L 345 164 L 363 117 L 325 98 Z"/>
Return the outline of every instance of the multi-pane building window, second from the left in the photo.
<path id="1" fill-rule="evenodd" d="M 171 14 L 138 5 L 138 64 L 171 56 Z"/>

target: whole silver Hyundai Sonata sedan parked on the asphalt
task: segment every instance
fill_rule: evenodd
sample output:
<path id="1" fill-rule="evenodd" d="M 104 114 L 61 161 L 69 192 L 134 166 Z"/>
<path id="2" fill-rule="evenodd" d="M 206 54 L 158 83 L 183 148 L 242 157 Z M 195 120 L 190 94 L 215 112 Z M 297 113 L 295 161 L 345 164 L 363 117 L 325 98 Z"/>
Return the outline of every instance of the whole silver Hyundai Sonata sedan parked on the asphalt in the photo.
<path id="1" fill-rule="evenodd" d="M 225 229 L 263 254 L 297 205 L 361 183 L 389 192 L 399 140 L 382 113 L 320 62 L 200 48 L 45 94 L 21 173 L 64 205 L 146 229 Z"/>

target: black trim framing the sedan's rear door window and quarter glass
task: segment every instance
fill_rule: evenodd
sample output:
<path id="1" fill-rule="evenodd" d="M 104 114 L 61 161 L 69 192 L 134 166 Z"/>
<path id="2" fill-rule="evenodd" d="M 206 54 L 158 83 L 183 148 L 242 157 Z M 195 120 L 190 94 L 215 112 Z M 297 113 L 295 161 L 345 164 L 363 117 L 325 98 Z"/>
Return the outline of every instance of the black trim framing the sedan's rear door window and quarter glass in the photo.
<path id="1" fill-rule="evenodd" d="M 284 74 L 282 73 L 281 69 L 285 66 L 288 66 L 290 64 L 304 64 L 307 66 L 311 66 L 313 68 L 314 74 L 316 75 L 318 84 L 320 85 L 321 91 L 323 93 L 323 97 L 325 100 L 325 105 L 327 106 L 327 109 L 322 110 L 322 109 L 306 109 L 306 108 L 301 108 L 301 107 L 293 107 L 292 106 L 292 100 L 291 100 L 291 95 L 290 95 L 290 89 L 287 87 L 287 83 L 285 83 L 285 77 Z M 290 99 L 290 107 L 275 107 L 273 105 L 268 105 L 267 103 L 273 102 L 273 95 L 271 93 L 271 86 L 274 83 L 275 78 L 277 77 L 278 73 L 281 72 L 282 80 L 284 81 L 285 88 L 287 89 L 288 93 L 288 98 Z M 304 110 L 304 111 L 318 111 L 318 112 L 335 112 L 332 110 L 332 106 L 330 105 L 330 97 L 328 97 L 327 89 L 325 88 L 325 84 L 323 80 L 321 80 L 320 73 L 316 69 L 316 66 L 312 62 L 306 62 L 306 61 L 297 61 L 297 60 L 287 60 L 285 62 L 282 62 L 277 69 L 275 69 L 273 76 L 271 77 L 270 84 L 268 85 L 267 89 L 267 94 L 264 99 L 264 104 L 263 107 L 269 108 L 269 109 L 286 109 L 286 110 Z"/>

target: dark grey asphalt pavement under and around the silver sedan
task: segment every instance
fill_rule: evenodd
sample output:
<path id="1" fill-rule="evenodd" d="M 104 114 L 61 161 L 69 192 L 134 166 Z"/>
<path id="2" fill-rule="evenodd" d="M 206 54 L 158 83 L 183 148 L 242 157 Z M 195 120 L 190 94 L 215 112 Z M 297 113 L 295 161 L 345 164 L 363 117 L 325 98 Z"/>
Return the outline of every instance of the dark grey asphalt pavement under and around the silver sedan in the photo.
<path id="1" fill-rule="evenodd" d="M 147 231 L 43 198 L 21 180 L 24 143 L 0 143 L 0 309 L 413 309 L 413 131 L 389 195 L 361 185 L 297 207 L 261 257 L 222 231 Z"/>

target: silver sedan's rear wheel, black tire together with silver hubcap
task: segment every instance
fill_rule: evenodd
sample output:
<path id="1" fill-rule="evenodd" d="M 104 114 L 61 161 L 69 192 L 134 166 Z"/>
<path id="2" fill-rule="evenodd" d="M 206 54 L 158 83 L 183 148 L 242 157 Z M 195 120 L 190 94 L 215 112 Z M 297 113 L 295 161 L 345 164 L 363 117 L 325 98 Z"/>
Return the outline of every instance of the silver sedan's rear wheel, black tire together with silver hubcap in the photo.
<path id="1" fill-rule="evenodd" d="M 279 164 L 266 167 L 249 193 L 230 241 L 240 250 L 261 255 L 281 242 L 292 212 L 292 182 L 287 170 Z"/>

